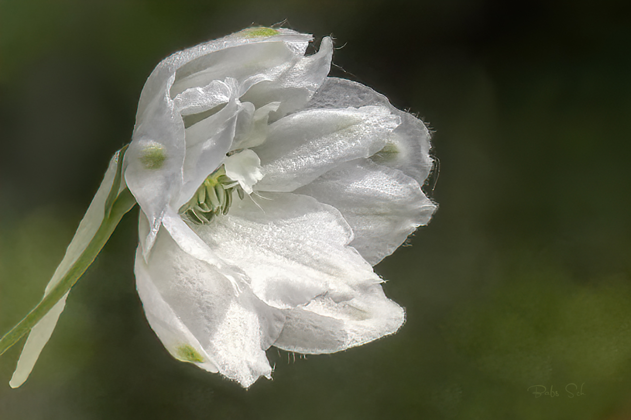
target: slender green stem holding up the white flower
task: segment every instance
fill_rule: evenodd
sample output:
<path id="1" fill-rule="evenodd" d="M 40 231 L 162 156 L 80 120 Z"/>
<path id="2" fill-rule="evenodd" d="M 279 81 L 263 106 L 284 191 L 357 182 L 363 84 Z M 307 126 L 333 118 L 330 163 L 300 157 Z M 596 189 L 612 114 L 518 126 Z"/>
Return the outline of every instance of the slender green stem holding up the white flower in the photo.
<path id="1" fill-rule="evenodd" d="M 0 339 L 0 354 L 3 354 L 9 347 L 18 342 L 23 335 L 27 334 L 35 327 L 42 317 L 68 293 L 88 267 L 90 267 L 90 264 L 94 262 L 98 253 L 102 250 L 107 240 L 109 240 L 112 232 L 114 232 L 119 221 L 121 221 L 122 216 L 130 211 L 135 204 L 136 199 L 134 199 L 134 196 L 129 192 L 129 189 L 124 189 L 121 194 L 118 195 L 112 204 L 109 214 L 103 218 L 97 233 L 95 233 L 90 243 L 88 243 L 88 246 L 83 250 L 73 266 L 66 272 L 66 275 L 62 277 L 59 283 L 50 290 L 50 293 L 44 296 L 42 301 L 20 321 L 20 324 L 13 327 L 13 329 Z"/>

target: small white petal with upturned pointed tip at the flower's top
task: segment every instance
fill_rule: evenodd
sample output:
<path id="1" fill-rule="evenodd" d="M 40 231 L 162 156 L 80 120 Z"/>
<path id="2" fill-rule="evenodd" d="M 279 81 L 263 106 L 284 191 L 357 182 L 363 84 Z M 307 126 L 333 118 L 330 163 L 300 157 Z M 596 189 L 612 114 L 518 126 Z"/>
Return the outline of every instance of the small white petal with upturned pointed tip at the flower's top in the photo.
<path id="1" fill-rule="evenodd" d="M 242 100 L 254 103 L 257 108 L 269 102 L 280 102 L 273 119 L 301 109 L 329 74 L 331 57 L 333 42 L 329 37 L 322 38 L 316 54 L 297 57 L 290 64 L 247 79 L 244 88 L 248 90 Z"/>

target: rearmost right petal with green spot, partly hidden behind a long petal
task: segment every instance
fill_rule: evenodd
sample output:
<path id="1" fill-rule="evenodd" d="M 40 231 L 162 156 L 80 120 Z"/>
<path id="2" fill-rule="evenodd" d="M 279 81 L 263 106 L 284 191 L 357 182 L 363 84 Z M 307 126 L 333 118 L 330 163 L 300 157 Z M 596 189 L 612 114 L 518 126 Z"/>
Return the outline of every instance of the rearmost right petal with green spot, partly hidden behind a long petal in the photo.
<path id="1" fill-rule="evenodd" d="M 429 155 L 430 132 L 421 120 L 392 107 L 386 96 L 361 83 L 326 78 L 306 108 L 359 108 L 367 105 L 387 107 L 394 115 L 401 117 L 401 125 L 387 139 L 394 147 L 387 156 L 380 158 L 378 163 L 399 169 L 423 185 L 433 166 L 433 160 Z"/>

